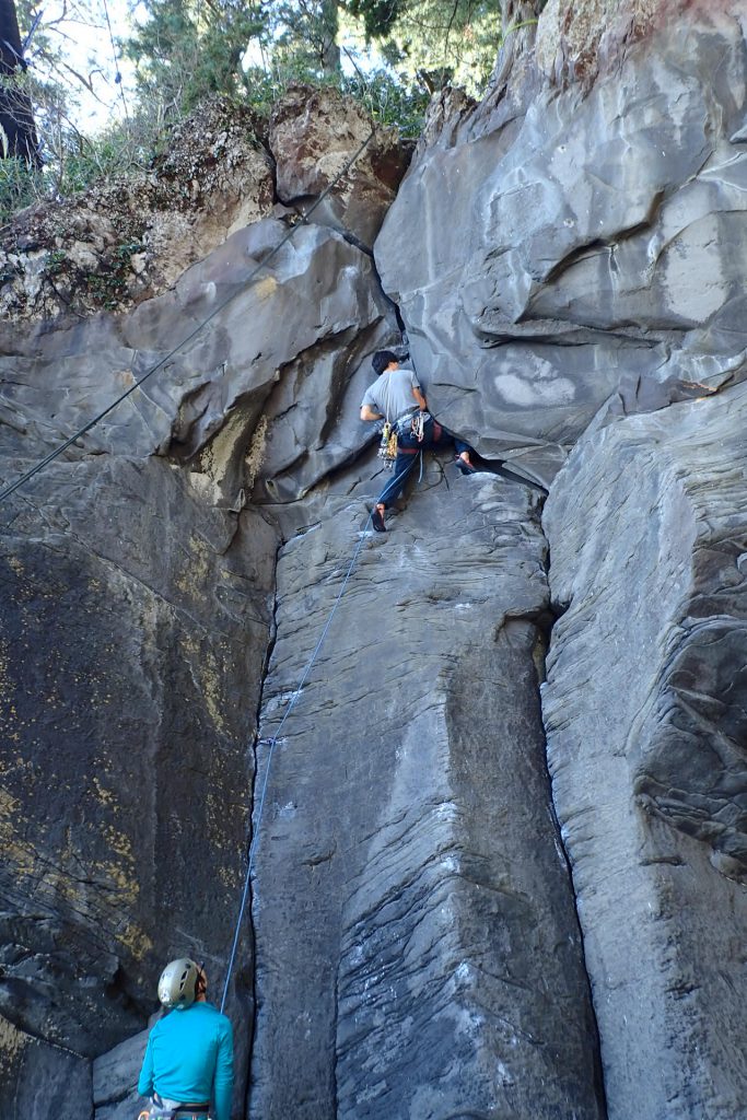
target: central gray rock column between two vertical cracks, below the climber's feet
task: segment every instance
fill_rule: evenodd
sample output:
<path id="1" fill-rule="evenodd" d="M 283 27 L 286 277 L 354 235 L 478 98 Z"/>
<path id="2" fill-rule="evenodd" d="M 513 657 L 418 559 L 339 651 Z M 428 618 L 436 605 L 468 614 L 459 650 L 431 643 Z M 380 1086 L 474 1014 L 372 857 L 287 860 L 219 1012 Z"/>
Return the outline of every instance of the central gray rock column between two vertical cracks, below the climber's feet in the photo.
<path id="1" fill-rule="evenodd" d="M 438 479 L 391 539 L 368 532 L 273 749 L 251 1116 L 604 1114 L 544 773 L 535 500 Z M 280 553 L 260 774 L 349 570 L 361 488 Z"/>

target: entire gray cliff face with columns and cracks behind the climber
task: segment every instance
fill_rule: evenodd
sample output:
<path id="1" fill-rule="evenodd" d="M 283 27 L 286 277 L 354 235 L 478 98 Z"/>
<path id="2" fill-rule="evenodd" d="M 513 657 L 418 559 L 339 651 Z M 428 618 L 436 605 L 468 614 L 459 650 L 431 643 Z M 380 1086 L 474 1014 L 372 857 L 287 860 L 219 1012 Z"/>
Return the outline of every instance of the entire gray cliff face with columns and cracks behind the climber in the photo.
<path id="1" fill-rule="evenodd" d="M 370 125 L 296 92 L 288 206 L 216 203 L 118 314 L 3 287 L 3 482 L 152 373 L 0 503 L 3 1118 L 132 1114 L 164 960 L 221 995 L 253 810 L 232 1120 L 744 1120 L 745 16 L 503 7 L 375 264 L 396 175 L 299 223 Z M 371 532 L 376 267 L 544 511 L 428 460 Z"/>

